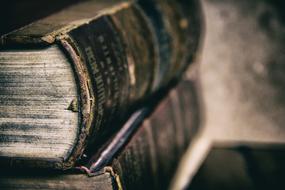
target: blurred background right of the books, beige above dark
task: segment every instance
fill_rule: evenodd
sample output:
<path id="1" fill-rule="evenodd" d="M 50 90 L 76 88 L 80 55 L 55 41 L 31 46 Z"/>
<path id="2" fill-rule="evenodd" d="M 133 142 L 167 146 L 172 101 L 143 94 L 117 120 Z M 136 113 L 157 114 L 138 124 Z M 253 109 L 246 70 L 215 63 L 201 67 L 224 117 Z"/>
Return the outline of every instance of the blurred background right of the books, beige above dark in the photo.
<path id="1" fill-rule="evenodd" d="M 202 138 L 212 145 L 188 188 L 284 189 L 285 2 L 201 3 Z"/>

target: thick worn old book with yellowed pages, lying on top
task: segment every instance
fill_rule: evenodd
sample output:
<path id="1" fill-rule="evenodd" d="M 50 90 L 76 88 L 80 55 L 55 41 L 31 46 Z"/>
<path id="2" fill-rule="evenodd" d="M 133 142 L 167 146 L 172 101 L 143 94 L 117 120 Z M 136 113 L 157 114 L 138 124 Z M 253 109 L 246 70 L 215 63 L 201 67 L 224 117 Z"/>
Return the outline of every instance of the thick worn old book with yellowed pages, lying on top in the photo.
<path id="1" fill-rule="evenodd" d="M 86 1 L 1 37 L 1 165 L 70 168 L 179 78 L 198 46 L 199 4 L 149 2 L 157 16 L 136 1 Z"/>

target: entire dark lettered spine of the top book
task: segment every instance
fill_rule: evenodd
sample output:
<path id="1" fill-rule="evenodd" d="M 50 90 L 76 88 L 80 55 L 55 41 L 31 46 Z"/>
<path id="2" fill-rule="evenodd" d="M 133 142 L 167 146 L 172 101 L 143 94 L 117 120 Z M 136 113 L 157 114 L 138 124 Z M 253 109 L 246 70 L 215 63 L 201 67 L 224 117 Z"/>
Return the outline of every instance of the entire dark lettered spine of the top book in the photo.
<path id="1" fill-rule="evenodd" d="M 123 3 L 119 11 L 71 30 L 65 37 L 80 57 L 88 78 L 91 111 L 88 121 L 84 122 L 89 126 L 82 127 L 82 142 L 88 135 L 92 137 L 89 145 L 94 144 L 104 134 L 116 130 L 132 107 L 181 75 L 190 63 L 183 59 L 188 53 L 187 40 L 192 36 L 188 37 L 187 24 L 177 24 L 175 20 L 186 19 L 178 7 L 180 4 L 175 1 L 151 3 L 160 7 L 156 9 L 160 15 L 156 19 L 160 20 L 163 31 L 155 29 L 156 21 L 143 5 Z M 160 33 L 164 33 L 163 39 Z M 165 39 L 169 39 L 169 43 L 164 42 Z M 191 40 L 199 41 L 198 38 Z"/>

